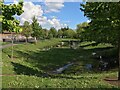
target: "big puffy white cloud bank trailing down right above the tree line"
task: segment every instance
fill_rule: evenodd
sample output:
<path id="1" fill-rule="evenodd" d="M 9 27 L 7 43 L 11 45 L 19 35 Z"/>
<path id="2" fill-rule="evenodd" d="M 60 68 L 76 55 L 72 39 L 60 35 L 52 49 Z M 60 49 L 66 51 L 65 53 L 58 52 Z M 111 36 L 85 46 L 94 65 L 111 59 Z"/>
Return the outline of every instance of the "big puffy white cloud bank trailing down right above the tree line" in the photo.
<path id="1" fill-rule="evenodd" d="M 61 24 L 60 20 L 55 16 L 50 19 L 48 19 L 46 16 L 43 16 L 42 7 L 40 5 L 34 5 L 32 2 L 24 2 L 23 10 L 24 13 L 20 16 L 21 25 L 23 25 L 25 21 L 29 21 L 31 23 L 32 18 L 36 16 L 39 24 L 43 28 L 50 29 L 50 27 L 55 27 L 56 29 L 60 29 L 61 27 L 67 26 L 67 24 Z"/>

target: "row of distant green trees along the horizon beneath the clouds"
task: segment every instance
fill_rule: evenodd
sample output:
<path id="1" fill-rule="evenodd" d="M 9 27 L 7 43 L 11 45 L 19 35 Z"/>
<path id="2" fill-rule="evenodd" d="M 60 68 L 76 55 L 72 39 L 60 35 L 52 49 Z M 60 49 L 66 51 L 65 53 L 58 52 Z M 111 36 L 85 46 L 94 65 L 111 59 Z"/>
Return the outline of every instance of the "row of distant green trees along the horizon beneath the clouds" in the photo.
<path id="1" fill-rule="evenodd" d="M 77 25 L 77 29 L 73 30 L 71 28 L 64 27 L 59 30 L 51 27 L 50 29 L 44 29 L 37 22 L 37 19 L 33 17 L 32 23 L 30 24 L 28 21 L 24 22 L 24 25 L 21 26 L 23 31 L 21 32 L 27 39 L 29 36 L 35 37 L 35 39 L 51 39 L 51 38 L 80 38 L 80 33 L 84 31 L 85 26 L 88 23 L 84 22 L 82 24 Z"/>

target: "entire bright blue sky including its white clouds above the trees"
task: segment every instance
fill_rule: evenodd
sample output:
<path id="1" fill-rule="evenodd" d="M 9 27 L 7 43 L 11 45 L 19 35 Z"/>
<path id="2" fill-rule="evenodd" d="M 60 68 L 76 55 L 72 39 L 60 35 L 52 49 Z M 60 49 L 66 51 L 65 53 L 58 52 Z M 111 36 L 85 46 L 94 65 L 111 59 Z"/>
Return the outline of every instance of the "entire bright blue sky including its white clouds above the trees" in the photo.
<path id="1" fill-rule="evenodd" d="M 84 17 L 84 13 L 80 11 L 80 3 L 83 2 L 73 2 L 72 0 L 71 2 L 64 0 L 59 0 L 58 2 L 52 1 L 24 0 L 24 13 L 19 17 L 15 17 L 20 20 L 20 25 L 23 25 L 25 21 L 32 23 L 32 18 L 36 16 L 39 24 L 47 29 L 50 27 L 60 29 L 67 26 L 75 29 L 77 24 L 89 21 Z M 18 1 L 4 0 L 4 2 L 5 4 L 10 4 L 17 3 Z"/>

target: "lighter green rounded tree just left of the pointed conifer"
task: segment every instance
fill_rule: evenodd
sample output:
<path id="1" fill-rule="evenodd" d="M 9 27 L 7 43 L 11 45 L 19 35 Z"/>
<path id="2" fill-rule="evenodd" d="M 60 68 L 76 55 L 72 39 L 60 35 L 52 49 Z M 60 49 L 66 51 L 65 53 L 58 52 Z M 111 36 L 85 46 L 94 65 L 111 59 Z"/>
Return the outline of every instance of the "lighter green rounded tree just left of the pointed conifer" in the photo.
<path id="1" fill-rule="evenodd" d="M 32 26 L 28 21 L 24 22 L 22 34 L 26 37 L 26 43 L 28 42 L 28 37 L 31 36 Z"/>

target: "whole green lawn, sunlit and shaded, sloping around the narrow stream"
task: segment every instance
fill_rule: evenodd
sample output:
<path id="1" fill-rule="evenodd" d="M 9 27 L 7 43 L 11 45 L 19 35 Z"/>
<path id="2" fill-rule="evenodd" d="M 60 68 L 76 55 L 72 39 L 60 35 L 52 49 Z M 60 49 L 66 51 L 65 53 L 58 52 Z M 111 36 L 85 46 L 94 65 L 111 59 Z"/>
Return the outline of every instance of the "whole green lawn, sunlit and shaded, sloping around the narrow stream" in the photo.
<path id="1" fill-rule="evenodd" d="M 97 64 L 91 58 L 92 49 L 70 49 L 69 47 L 54 47 L 60 39 L 39 41 L 35 44 L 20 44 L 14 46 L 14 58 L 11 60 L 11 47 L 3 49 L 3 88 L 117 88 L 106 83 L 103 78 L 116 76 L 116 71 L 98 72 L 86 71 L 87 63 Z M 102 47 L 101 47 L 102 48 Z M 63 74 L 46 76 L 68 62 L 77 62 Z M 83 67 L 81 67 L 83 65 Z"/>

